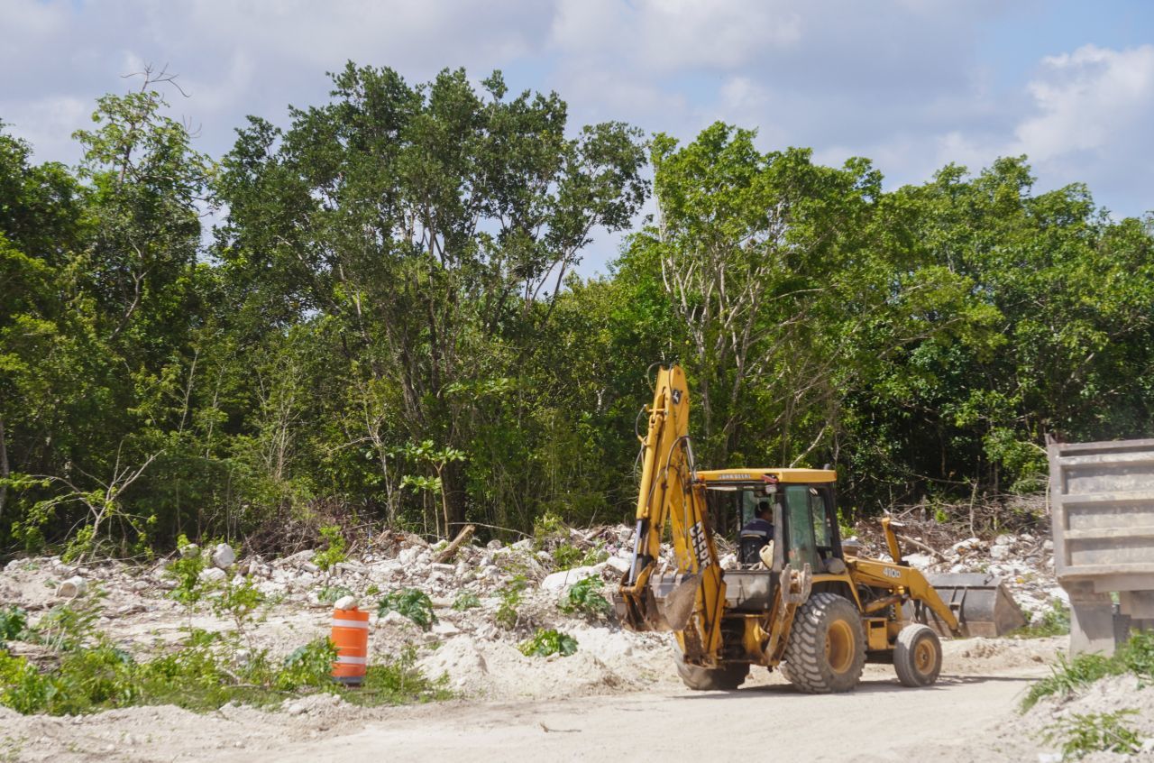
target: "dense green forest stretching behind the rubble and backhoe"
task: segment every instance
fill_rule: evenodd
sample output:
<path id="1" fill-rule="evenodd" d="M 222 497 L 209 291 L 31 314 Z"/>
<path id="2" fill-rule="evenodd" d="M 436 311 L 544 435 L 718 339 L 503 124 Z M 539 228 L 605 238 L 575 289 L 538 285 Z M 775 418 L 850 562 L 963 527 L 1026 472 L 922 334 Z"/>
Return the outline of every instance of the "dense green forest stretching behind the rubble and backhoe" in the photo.
<path id="1" fill-rule="evenodd" d="M 1026 157 L 886 190 L 353 65 L 209 157 L 164 90 L 100 98 L 76 167 L 0 126 L 0 548 L 621 521 L 657 361 L 699 465 L 832 463 L 855 515 L 1044 489 L 1050 433 L 1151 436 L 1154 219 Z"/>

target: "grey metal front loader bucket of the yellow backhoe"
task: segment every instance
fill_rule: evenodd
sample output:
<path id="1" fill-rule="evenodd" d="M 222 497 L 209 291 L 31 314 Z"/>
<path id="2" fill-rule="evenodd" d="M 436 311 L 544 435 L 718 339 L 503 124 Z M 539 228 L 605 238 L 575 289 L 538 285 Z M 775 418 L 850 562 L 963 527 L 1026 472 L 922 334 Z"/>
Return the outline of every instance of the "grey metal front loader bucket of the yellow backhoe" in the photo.
<path id="1" fill-rule="evenodd" d="M 926 577 L 958 618 L 962 636 L 994 638 L 1026 624 L 1026 616 L 1002 578 L 982 573 L 951 573 Z M 924 622 L 943 636 L 951 635 L 945 623 L 927 606 L 907 603 L 902 607 L 902 615 L 906 620 Z"/>

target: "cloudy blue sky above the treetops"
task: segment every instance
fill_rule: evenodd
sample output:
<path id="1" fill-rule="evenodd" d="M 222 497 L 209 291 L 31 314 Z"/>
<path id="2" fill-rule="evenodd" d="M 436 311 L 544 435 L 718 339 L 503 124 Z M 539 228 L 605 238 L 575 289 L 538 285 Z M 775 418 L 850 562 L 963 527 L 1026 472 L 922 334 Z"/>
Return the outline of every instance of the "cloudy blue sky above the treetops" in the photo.
<path id="1" fill-rule="evenodd" d="M 886 185 L 1026 154 L 1046 190 L 1086 182 L 1115 216 L 1154 210 L 1154 2 L 1020 0 L 0 0 L 0 120 L 40 160 L 147 62 L 180 74 L 175 115 L 220 156 L 253 113 L 321 103 L 352 59 L 411 81 L 464 66 L 556 90 L 572 126 L 681 140 L 713 120 L 764 149 L 865 156 Z M 582 270 L 604 271 L 601 237 Z"/>

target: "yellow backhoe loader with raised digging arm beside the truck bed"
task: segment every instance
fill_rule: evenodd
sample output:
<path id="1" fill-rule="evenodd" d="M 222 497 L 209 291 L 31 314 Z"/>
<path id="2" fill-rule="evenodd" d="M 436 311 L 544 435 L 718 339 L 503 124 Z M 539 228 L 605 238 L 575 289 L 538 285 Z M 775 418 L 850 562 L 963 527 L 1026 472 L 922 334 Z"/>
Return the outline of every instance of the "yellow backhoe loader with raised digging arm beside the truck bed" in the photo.
<path id="1" fill-rule="evenodd" d="M 995 636 L 1025 624 L 998 581 L 927 578 L 905 563 L 889 519 L 893 561 L 842 546 L 832 470 L 697 471 L 680 367 L 660 368 L 647 412 L 632 564 L 614 605 L 630 630 L 674 633 L 688 687 L 735 689 L 762 665 L 802 691 L 848 691 L 867 661 L 892 663 L 905 686 L 928 686 L 942 670 L 938 634 Z M 772 517 L 772 530 L 739 539 L 737 569 L 719 564 L 711 510 L 743 525 L 758 513 Z M 672 562 L 661 554 L 666 524 Z"/>

